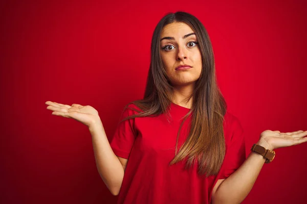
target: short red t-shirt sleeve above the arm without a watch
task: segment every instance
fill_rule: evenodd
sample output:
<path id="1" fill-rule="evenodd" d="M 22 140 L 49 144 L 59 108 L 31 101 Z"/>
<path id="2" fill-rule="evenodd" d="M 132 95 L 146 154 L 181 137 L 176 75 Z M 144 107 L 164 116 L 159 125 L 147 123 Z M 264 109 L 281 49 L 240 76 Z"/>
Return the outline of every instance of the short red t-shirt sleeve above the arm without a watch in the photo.
<path id="1" fill-rule="evenodd" d="M 126 108 L 123 110 L 119 123 L 116 127 L 115 133 L 111 140 L 111 148 L 116 156 L 125 159 L 129 158 L 131 148 L 136 138 L 135 131 L 135 118 L 122 121 L 124 118 L 130 115 L 134 115 L 133 110 Z"/>

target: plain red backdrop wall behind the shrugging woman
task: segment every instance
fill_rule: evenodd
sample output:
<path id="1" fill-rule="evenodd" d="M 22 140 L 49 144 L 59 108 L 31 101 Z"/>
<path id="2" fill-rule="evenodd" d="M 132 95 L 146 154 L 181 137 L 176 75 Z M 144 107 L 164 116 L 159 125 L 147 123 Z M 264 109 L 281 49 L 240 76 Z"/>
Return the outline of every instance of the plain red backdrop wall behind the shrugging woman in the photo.
<path id="1" fill-rule="evenodd" d="M 111 139 L 124 105 L 143 96 L 151 36 L 167 12 L 189 12 L 205 25 L 247 155 L 265 130 L 307 130 L 304 1 L 2 1 L 0 8 L 1 203 L 116 202 L 87 127 L 51 115 L 45 101 L 93 106 Z M 305 203 L 306 148 L 276 149 L 243 203 Z"/>

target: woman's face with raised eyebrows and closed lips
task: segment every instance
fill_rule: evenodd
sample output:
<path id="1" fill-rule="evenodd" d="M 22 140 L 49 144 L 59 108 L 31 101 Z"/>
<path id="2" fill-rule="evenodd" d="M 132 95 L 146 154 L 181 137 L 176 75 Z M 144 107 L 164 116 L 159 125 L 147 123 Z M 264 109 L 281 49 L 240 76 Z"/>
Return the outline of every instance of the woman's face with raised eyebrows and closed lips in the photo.
<path id="1" fill-rule="evenodd" d="M 172 86 L 193 84 L 200 78 L 202 56 L 196 35 L 183 22 L 165 25 L 161 33 L 160 55 Z M 189 65 L 188 69 L 179 65 Z"/>

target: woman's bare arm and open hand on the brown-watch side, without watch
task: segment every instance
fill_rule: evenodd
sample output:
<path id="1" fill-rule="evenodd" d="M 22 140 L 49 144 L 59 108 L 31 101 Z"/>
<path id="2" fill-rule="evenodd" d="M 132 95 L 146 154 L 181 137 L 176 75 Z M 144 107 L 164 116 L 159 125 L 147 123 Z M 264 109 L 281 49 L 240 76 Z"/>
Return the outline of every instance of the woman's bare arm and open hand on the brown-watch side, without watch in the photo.
<path id="1" fill-rule="evenodd" d="M 266 149 L 276 149 L 307 142 L 307 131 L 280 133 L 265 131 L 260 135 L 258 145 Z M 224 181 L 218 180 L 212 192 L 212 203 L 240 203 L 251 191 L 265 159 L 251 151 L 244 163 Z"/>

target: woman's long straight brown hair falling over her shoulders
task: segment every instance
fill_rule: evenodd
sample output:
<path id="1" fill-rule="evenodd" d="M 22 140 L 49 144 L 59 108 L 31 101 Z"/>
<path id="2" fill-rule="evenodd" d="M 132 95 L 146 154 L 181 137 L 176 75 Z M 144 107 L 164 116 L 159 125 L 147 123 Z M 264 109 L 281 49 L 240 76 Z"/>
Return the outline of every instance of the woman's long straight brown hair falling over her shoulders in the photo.
<path id="1" fill-rule="evenodd" d="M 172 22 L 184 22 L 195 32 L 202 56 L 202 72 L 200 78 L 195 82 L 193 93 L 187 98 L 190 100 L 192 97 L 192 108 L 185 115 L 180 125 L 176 142 L 176 156 L 169 165 L 187 158 L 186 168 L 189 168 L 196 161 L 195 159 L 198 159 L 199 174 L 216 175 L 225 157 L 223 121 L 227 105 L 216 83 L 215 63 L 210 38 L 204 25 L 193 15 L 181 11 L 168 13 L 157 24 L 151 39 L 151 59 L 144 97 L 141 100 L 129 103 L 136 105 L 142 111 L 131 108 L 138 114 L 128 116 L 125 119 L 155 117 L 162 113 L 170 116 L 169 106 L 172 101 L 172 86 L 169 83 L 160 56 L 160 37 L 163 27 Z M 190 114 L 192 116 L 190 132 L 178 152 L 180 130 Z"/>

